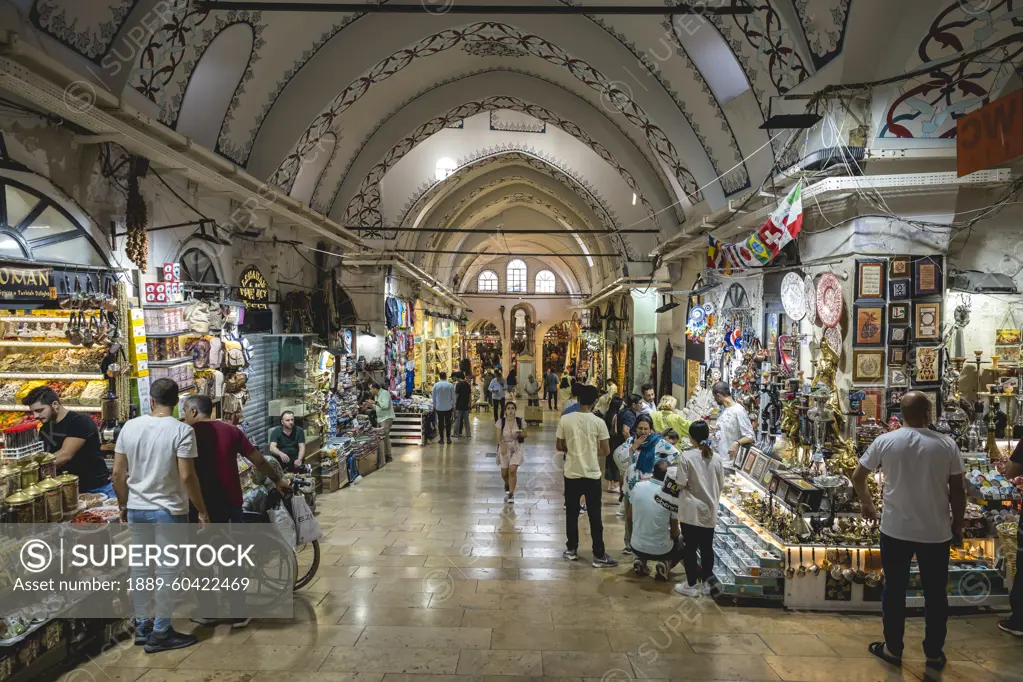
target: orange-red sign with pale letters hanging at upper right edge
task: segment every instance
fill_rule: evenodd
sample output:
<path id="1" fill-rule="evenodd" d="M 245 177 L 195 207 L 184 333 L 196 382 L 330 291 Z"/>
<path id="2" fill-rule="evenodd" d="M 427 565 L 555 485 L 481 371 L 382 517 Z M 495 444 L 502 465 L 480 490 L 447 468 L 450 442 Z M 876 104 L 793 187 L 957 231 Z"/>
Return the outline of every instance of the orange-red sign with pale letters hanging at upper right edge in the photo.
<path id="1" fill-rule="evenodd" d="M 989 102 L 955 125 L 959 177 L 1023 154 L 1023 90 Z"/>

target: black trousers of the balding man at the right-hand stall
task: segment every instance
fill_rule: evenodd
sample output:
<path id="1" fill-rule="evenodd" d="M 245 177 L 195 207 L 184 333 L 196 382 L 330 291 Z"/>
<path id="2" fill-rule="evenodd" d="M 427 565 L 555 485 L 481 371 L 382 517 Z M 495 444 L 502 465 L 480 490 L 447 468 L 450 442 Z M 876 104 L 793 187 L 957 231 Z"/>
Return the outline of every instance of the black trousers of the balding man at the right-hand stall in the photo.
<path id="1" fill-rule="evenodd" d="M 881 619 L 885 643 L 894 655 L 902 655 L 905 634 L 905 591 L 909 586 L 909 562 L 917 556 L 920 582 L 924 587 L 924 654 L 941 656 L 948 631 L 948 549 L 951 542 L 908 542 L 881 534 L 881 567 L 885 570 L 885 591 L 881 597 Z"/>

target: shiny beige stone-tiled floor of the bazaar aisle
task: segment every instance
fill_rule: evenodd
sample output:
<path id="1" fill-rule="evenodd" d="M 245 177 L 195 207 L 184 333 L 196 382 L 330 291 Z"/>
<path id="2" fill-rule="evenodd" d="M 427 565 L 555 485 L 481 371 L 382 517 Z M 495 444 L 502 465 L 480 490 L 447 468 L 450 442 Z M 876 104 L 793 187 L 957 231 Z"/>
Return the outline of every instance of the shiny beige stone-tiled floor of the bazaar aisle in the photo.
<path id="1" fill-rule="evenodd" d="M 477 415 L 474 427 L 472 441 L 395 449 L 392 464 L 319 498 L 321 565 L 292 621 L 201 629 L 197 646 L 161 654 L 119 645 L 66 682 L 923 679 L 920 619 L 898 671 L 866 651 L 878 617 L 718 606 L 633 576 L 627 560 L 593 569 L 585 518 L 580 560 L 563 560 L 552 413 L 528 439 L 514 506 L 492 423 Z M 605 538 L 625 559 L 614 499 Z M 1021 644 L 997 618 L 952 619 L 945 679 L 1023 681 Z"/>

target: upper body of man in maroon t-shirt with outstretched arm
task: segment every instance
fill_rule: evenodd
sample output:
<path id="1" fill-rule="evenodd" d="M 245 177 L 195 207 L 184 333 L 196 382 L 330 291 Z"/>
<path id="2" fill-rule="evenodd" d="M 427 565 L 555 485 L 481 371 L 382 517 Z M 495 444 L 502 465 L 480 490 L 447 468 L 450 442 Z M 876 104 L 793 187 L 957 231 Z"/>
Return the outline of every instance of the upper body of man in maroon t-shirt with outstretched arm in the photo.
<path id="1" fill-rule="evenodd" d="M 238 455 L 262 471 L 283 493 L 287 484 L 270 466 L 237 426 L 212 418 L 209 396 L 189 396 L 182 409 L 185 423 L 195 431 L 195 473 L 213 524 L 241 522 L 241 480 Z"/>

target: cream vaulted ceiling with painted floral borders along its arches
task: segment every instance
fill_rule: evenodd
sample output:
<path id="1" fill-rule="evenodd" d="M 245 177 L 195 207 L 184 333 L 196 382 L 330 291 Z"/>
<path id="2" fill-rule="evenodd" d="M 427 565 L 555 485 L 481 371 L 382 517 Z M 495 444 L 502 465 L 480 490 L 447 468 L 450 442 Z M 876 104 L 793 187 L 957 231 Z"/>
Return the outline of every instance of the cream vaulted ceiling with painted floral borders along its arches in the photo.
<path id="1" fill-rule="evenodd" d="M 760 129 L 779 95 L 905 73 L 1023 31 L 1019 0 L 722 0 L 711 6 L 748 2 L 753 13 L 676 16 L 465 16 L 446 11 L 451 0 L 424 0 L 415 14 L 10 1 L 17 30 L 83 77 L 339 222 L 372 228 L 493 226 L 515 210 L 510 222 L 533 212 L 566 231 L 673 234 L 695 204 L 722 206 L 780 162 L 784 136 Z M 947 138 L 1012 73 L 935 67 L 876 93 L 871 143 Z M 434 177 L 438 155 L 452 157 L 451 176 Z M 375 236 L 406 249 L 510 245 Z M 660 237 L 515 241 L 617 254 L 559 264 L 587 290 Z M 481 258 L 415 256 L 449 278 Z"/>

